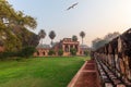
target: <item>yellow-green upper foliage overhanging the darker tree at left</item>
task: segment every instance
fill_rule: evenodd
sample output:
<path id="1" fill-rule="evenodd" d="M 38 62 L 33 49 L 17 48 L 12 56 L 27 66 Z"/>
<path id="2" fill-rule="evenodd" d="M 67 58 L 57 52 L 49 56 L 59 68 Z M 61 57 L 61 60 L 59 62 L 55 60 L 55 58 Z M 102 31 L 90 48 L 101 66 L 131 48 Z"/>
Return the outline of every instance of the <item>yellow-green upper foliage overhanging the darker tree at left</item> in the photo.
<path id="1" fill-rule="evenodd" d="M 22 11 L 15 11 L 7 0 L 0 1 L 0 22 L 10 27 L 21 25 L 21 27 L 35 28 L 37 23 L 34 17 L 25 15 Z M 8 27 L 9 27 L 8 26 Z"/>

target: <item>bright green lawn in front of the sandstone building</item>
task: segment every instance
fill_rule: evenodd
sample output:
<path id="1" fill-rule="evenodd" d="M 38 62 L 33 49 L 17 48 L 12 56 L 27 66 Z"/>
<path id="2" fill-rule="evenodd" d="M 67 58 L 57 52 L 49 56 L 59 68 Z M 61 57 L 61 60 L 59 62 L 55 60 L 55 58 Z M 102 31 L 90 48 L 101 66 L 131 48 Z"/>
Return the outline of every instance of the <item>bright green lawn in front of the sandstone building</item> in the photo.
<path id="1" fill-rule="evenodd" d="M 0 61 L 0 87 L 66 87 L 88 58 Z"/>

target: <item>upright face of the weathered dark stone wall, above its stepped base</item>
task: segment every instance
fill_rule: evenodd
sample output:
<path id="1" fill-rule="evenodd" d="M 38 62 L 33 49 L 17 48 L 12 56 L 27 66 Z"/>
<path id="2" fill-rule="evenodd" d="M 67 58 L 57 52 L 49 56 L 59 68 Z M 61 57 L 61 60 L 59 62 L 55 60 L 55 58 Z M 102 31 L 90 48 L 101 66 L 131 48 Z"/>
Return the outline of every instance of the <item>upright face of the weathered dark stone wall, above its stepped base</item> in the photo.
<path id="1" fill-rule="evenodd" d="M 127 87 L 131 87 L 131 28 L 97 49 L 93 57 L 110 69 Z"/>

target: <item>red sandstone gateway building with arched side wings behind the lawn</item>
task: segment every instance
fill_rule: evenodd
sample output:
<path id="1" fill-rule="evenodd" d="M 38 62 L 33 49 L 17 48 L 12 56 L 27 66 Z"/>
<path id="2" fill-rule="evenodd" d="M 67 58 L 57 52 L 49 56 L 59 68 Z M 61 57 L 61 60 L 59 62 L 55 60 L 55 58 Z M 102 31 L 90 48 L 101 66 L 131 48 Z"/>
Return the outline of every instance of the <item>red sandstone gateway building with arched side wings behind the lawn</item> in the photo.
<path id="1" fill-rule="evenodd" d="M 52 47 L 49 45 L 38 45 L 36 47 L 37 52 L 35 57 L 48 57 L 49 50 L 55 51 L 55 55 L 58 55 L 58 51 L 63 50 L 63 55 L 71 55 L 71 48 L 76 50 L 76 55 L 84 55 L 84 51 L 88 50 L 86 45 L 80 45 L 80 41 L 73 41 L 71 38 L 63 38 L 60 42 L 55 44 Z"/>

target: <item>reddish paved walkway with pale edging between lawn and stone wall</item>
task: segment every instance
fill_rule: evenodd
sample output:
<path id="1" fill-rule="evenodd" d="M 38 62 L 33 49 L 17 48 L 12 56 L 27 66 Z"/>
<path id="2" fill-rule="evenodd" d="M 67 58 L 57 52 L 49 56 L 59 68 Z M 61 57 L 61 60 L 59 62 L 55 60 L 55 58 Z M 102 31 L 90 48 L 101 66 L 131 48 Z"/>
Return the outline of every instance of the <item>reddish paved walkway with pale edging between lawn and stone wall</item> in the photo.
<path id="1" fill-rule="evenodd" d="M 93 60 L 84 63 L 68 87 L 99 87 L 97 85 L 97 74 Z"/>

